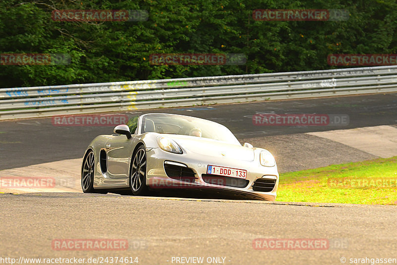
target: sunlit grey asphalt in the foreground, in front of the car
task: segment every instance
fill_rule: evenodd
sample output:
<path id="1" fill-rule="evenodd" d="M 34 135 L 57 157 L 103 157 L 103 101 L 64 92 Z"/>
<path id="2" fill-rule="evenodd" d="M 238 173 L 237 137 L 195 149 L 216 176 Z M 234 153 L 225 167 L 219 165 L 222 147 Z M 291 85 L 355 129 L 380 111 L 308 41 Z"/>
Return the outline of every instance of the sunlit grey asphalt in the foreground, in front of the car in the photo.
<path id="1" fill-rule="evenodd" d="M 397 258 L 396 206 L 29 193 L 0 194 L 0 208 L 1 256 L 17 261 L 122 256 L 138 257 L 138 265 L 175 265 L 181 263 L 173 257 L 222 257 L 223 263 L 201 264 L 337 265 L 342 258 L 346 264 Z M 328 243 L 316 250 L 256 250 L 260 238 Z M 59 239 L 125 239 L 129 247 L 57 250 L 52 242 Z"/>

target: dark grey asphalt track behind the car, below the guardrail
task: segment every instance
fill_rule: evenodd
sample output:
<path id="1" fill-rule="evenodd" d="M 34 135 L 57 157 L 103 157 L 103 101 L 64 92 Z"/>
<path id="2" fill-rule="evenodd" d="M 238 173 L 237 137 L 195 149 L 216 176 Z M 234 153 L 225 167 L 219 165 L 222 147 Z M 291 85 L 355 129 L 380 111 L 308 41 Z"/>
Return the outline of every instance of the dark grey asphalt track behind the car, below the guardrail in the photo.
<path id="1" fill-rule="evenodd" d="M 149 112 L 197 116 L 227 126 L 238 139 L 265 139 L 264 136 L 397 124 L 397 93 L 261 101 L 122 113 L 132 117 Z M 257 113 L 347 114 L 349 123 L 348 125 L 301 127 L 255 126 L 252 116 Z M 0 160 L 0 170 L 80 158 L 95 136 L 112 134 L 113 127 L 54 126 L 51 118 L 2 121 L 0 122 L 0 153 L 3 155 Z M 274 142 L 278 138 L 268 139 L 268 142 L 272 143 L 271 140 Z M 267 145 L 260 147 L 267 149 Z M 277 151 L 276 149 L 277 145 L 275 145 L 275 150 L 269 150 L 274 152 Z M 365 159 L 370 158 L 372 157 L 365 157 Z M 362 157 L 357 158 L 357 161 L 359 159 Z"/>

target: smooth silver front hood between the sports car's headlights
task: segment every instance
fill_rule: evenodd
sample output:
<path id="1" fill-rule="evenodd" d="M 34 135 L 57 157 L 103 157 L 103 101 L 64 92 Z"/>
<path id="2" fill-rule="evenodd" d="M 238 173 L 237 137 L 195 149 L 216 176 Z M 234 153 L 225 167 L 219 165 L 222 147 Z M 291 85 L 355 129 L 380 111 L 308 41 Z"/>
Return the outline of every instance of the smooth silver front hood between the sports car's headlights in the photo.
<path id="1" fill-rule="evenodd" d="M 198 155 L 254 161 L 254 150 L 252 148 L 187 135 L 167 134 L 164 136 L 173 139 L 182 148 Z"/>

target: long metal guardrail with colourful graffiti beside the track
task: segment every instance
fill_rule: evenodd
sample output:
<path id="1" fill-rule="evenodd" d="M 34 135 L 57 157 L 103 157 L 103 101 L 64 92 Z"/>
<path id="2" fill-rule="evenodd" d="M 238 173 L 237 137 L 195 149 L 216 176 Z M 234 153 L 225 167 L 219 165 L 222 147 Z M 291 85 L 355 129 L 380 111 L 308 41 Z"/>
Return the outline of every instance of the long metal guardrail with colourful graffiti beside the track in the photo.
<path id="1" fill-rule="evenodd" d="M 0 88 L 0 120 L 397 91 L 397 66 Z"/>

